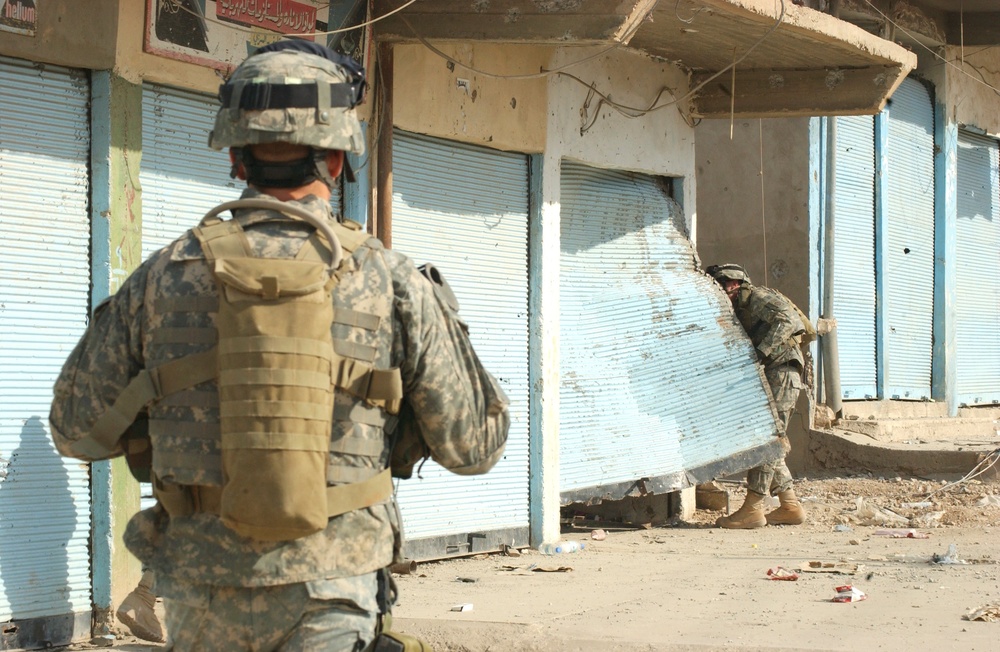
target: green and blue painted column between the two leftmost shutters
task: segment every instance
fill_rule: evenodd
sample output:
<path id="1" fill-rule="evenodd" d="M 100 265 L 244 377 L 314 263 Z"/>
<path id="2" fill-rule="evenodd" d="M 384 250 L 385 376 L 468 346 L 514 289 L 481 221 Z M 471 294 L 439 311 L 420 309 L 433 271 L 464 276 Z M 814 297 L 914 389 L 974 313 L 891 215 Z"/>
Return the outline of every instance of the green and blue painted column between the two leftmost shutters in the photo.
<path id="1" fill-rule="evenodd" d="M 109 71 L 91 86 L 92 305 L 114 294 L 142 262 L 142 87 Z M 124 458 L 91 465 L 94 634 L 107 633 L 114 607 L 135 588 L 139 561 L 122 544 L 139 511 L 139 484 Z"/>

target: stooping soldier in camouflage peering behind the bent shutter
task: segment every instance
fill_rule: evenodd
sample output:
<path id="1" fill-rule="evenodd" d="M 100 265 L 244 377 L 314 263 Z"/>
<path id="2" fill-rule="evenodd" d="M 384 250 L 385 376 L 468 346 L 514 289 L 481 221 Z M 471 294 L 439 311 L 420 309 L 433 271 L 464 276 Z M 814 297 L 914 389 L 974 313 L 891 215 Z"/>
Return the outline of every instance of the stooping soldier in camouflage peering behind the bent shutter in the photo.
<path id="1" fill-rule="evenodd" d="M 785 430 L 802 390 L 804 361 L 799 347 L 806 327 L 798 309 L 784 295 L 755 286 L 740 265 L 712 265 L 705 270 L 725 290 L 743 329 L 753 342 L 758 361 L 770 385 L 778 413 L 784 450 L 789 450 Z M 777 496 L 780 506 L 764 514 L 764 497 Z M 784 457 L 747 473 L 747 498 L 733 514 L 722 516 L 716 525 L 752 529 L 772 525 L 798 525 L 806 513 L 792 489 L 792 475 Z"/>

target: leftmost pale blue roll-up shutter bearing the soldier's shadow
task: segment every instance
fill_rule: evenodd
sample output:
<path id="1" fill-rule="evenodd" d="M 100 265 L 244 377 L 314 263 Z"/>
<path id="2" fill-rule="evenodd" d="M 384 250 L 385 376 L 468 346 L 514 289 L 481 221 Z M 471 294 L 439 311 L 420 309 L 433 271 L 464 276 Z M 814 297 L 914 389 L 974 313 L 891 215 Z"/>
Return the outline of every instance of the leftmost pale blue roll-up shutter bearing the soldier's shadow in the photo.
<path id="1" fill-rule="evenodd" d="M 0 622 L 20 649 L 90 632 L 90 467 L 48 432 L 90 313 L 90 87 L 3 57 L 0 87 Z"/>

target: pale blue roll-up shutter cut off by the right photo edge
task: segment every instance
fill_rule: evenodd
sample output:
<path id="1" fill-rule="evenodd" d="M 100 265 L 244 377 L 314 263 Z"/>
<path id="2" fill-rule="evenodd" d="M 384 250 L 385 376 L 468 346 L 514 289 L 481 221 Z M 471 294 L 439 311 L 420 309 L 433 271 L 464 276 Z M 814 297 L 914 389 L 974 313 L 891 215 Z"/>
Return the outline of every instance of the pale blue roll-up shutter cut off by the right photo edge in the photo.
<path id="1" fill-rule="evenodd" d="M 1000 403 L 1000 148 L 958 134 L 956 394 L 963 405 Z"/>

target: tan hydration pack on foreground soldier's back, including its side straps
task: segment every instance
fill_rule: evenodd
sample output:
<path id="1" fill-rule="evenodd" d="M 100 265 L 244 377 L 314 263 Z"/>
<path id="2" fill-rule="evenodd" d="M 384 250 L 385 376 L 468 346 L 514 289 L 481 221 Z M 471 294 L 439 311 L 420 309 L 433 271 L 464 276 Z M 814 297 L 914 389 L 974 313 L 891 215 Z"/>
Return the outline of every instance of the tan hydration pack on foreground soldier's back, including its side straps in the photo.
<path id="1" fill-rule="evenodd" d="M 217 217 L 234 208 L 285 213 L 317 232 L 296 258 L 258 258 L 242 227 Z M 389 499 L 389 469 L 328 484 L 334 389 L 391 415 L 402 402 L 399 369 L 342 357 L 332 341 L 332 291 L 344 249 L 353 251 L 369 236 L 267 199 L 222 204 L 194 234 L 216 279 L 217 346 L 142 370 L 77 442 L 79 453 L 99 457 L 119 445 L 127 456 L 143 453 L 148 463 L 148 433 L 133 432 L 146 406 L 217 379 L 222 487 L 177 485 L 154 474 L 153 493 L 171 516 L 210 511 L 244 536 L 286 541 Z"/>

